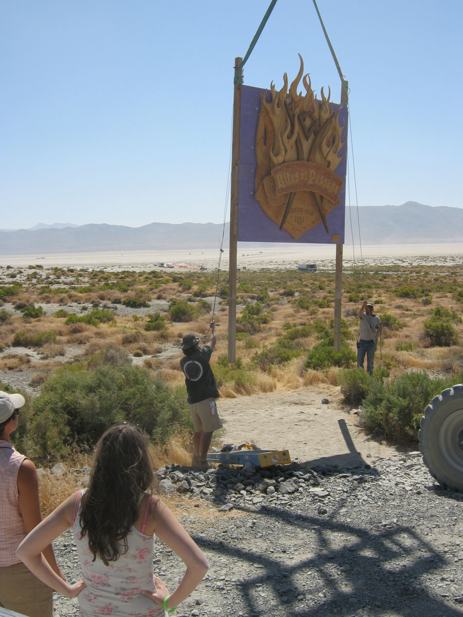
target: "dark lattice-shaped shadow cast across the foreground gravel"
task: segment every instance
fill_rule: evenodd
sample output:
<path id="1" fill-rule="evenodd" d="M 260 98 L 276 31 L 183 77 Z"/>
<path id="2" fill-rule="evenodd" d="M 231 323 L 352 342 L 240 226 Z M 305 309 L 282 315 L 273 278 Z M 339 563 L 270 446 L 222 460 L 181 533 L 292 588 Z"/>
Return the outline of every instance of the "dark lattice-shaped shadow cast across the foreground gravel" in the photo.
<path id="1" fill-rule="evenodd" d="M 294 515 L 278 507 L 262 507 L 258 512 L 236 509 L 267 519 L 265 526 L 273 541 L 265 541 L 265 550 L 258 537 L 249 550 L 223 540 L 194 539 L 235 564 L 242 563 L 240 615 L 462 615 L 459 608 L 430 595 L 420 584 L 420 578 L 447 561 L 406 526 L 390 524 L 371 532 L 360 525 Z M 282 547 L 288 543 L 293 549 L 286 552 Z M 297 555 L 297 561 L 291 555 Z M 265 591 L 264 599 L 259 591 Z"/>

